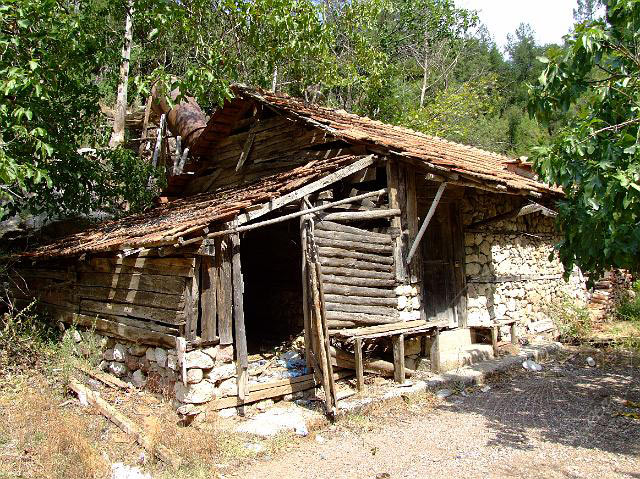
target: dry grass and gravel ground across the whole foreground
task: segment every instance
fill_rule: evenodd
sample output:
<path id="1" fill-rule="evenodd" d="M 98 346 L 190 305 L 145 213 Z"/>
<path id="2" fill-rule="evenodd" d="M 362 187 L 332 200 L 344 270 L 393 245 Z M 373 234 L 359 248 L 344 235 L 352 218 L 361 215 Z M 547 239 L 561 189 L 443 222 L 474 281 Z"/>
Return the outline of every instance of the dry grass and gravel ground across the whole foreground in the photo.
<path id="1" fill-rule="evenodd" d="M 178 471 L 43 378 L 0 388 L 0 479 L 110 477 L 114 462 L 163 478 L 640 478 L 640 359 L 572 353 L 490 389 L 408 396 L 351 413 L 309 436 L 233 432 L 242 419 L 180 427 L 170 403 L 102 388 L 111 404 L 183 459 Z M 57 384 L 57 383 L 56 383 Z M 248 447 L 250 446 L 250 447 Z M 147 457 L 148 459 L 148 457 Z"/>

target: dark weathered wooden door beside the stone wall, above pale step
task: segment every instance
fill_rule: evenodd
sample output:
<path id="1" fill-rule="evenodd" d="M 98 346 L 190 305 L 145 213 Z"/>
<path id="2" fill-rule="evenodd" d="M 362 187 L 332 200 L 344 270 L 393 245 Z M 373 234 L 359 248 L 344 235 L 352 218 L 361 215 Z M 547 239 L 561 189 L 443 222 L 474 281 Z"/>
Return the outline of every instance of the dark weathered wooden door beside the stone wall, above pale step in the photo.
<path id="1" fill-rule="evenodd" d="M 422 205 L 422 217 L 429 204 Z M 422 240 L 424 305 L 429 321 L 466 323 L 464 238 L 455 202 L 441 202 Z"/>

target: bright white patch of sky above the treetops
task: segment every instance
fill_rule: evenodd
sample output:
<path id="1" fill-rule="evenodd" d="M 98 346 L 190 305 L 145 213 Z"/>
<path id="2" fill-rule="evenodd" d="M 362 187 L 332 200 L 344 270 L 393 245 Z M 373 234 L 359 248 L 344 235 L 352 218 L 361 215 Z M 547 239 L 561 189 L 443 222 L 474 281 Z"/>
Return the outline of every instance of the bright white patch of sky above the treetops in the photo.
<path id="1" fill-rule="evenodd" d="M 500 47 L 520 23 L 529 23 L 539 43 L 561 43 L 573 26 L 576 0 L 456 0 L 460 7 L 478 10 L 480 20 Z"/>

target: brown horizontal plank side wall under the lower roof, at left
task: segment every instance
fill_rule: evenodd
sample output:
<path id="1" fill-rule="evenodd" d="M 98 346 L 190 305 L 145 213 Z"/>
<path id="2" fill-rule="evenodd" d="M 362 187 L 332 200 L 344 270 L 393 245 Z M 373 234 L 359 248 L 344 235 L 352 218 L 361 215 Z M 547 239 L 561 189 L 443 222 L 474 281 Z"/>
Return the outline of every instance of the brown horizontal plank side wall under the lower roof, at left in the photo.
<path id="1" fill-rule="evenodd" d="M 37 298 L 56 320 L 93 322 L 97 332 L 173 346 L 171 337 L 192 336 L 197 329 L 199 263 L 198 257 L 179 256 L 176 250 L 171 257 L 112 255 L 20 264 L 9 292 L 22 302 Z"/>

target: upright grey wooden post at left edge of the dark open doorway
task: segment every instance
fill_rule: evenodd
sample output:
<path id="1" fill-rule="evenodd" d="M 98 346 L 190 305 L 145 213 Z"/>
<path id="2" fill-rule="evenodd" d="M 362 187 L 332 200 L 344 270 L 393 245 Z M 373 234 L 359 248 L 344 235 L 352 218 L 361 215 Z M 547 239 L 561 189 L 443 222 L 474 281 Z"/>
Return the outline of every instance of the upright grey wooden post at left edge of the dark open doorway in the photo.
<path id="1" fill-rule="evenodd" d="M 238 372 L 238 397 L 244 399 L 248 395 L 247 368 L 247 332 L 244 327 L 244 281 L 242 280 L 242 263 L 240 262 L 240 235 L 231 235 L 232 280 L 233 280 L 233 324 L 236 333 L 236 366 Z"/>

